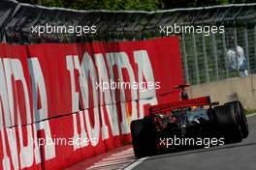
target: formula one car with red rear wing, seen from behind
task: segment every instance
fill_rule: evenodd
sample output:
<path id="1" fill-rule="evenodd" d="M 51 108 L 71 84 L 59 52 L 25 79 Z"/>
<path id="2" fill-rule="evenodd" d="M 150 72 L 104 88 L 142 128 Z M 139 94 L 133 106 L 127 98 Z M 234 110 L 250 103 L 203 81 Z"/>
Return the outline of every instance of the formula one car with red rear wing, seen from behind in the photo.
<path id="1" fill-rule="evenodd" d="M 219 105 L 210 102 L 209 97 L 188 99 L 184 90 L 187 86 L 176 86 L 180 89 L 181 100 L 152 105 L 149 115 L 131 122 L 135 156 L 191 148 L 182 145 L 184 140 L 181 139 L 188 139 L 189 144 L 192 139 L 214 139 L 210 145 L 215 146 L 219 139 L 226 144 L 240 142 L 248 136 L 248 125 L 239 100 Z M 179 138 L 178 145 L 174 144 L 176 138 Z"/>

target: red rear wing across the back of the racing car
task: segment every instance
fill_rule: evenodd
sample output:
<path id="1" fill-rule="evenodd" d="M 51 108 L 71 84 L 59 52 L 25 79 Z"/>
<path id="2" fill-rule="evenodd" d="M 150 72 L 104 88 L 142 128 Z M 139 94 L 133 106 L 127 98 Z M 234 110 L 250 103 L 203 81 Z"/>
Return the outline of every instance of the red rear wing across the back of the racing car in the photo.
<path id="1" fill-rule="evenodd" d="M 171 111 L 176 108 L 183 108 L 189 106 L 210 105 L 209 97 L 201 97 L 196 99 L 185 99 L 180 101 L 173 101 L 166 104 L 152 105 L 149 107 L 149 114 Z"/>

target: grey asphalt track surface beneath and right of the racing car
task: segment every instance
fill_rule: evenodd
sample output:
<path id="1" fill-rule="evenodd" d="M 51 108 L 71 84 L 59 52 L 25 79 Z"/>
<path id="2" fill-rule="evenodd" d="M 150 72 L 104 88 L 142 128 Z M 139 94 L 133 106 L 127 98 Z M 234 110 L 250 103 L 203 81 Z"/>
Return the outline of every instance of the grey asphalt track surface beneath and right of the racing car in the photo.
<path id="1" fill-rule="evenodd" d="M 256 170 L 256 115 L 247 117 L 249 136 L 240 143 L 149 156 L 126 170 Z"/>

